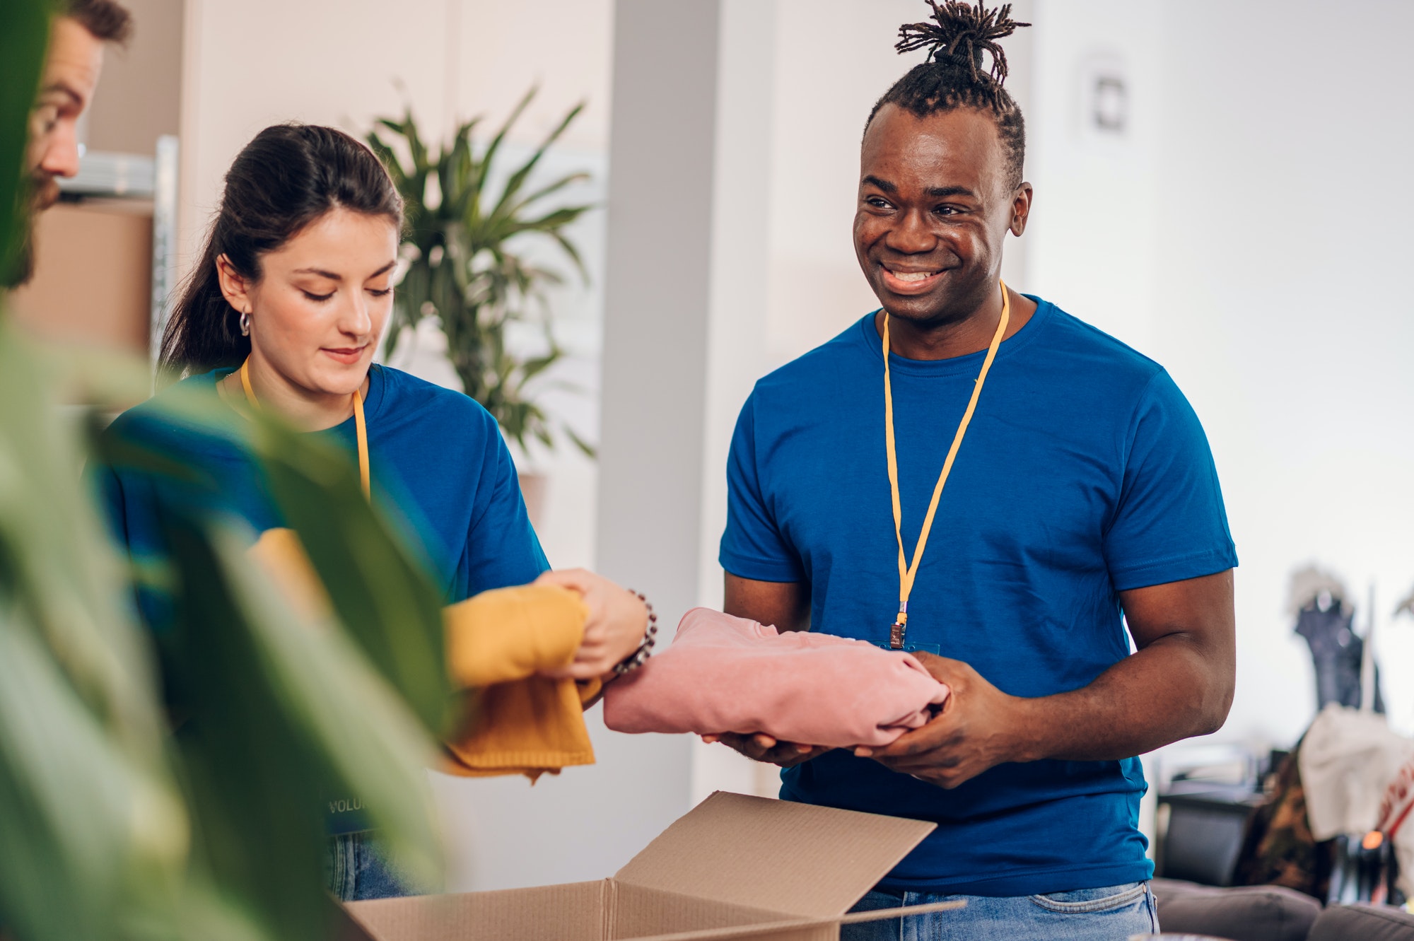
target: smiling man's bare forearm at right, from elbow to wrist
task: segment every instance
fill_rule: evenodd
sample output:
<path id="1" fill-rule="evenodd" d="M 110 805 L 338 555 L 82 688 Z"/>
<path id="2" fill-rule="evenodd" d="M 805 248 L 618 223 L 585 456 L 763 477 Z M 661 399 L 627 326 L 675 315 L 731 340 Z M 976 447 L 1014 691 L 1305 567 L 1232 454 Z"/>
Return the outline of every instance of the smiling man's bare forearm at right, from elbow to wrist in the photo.
<path id="1" fill-rule="evenodd" d="M 1230 671 L 1188 634 L 1159 637 L 1072 692 L 1017 699 L 1015 760 L 1110 762 L 1222 728 Z"/>

